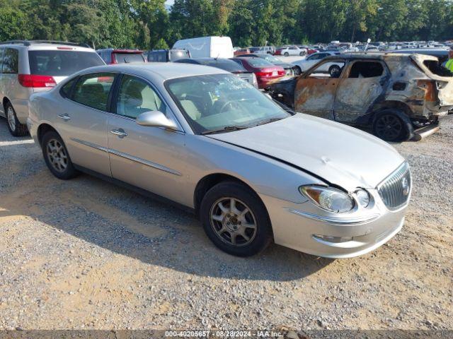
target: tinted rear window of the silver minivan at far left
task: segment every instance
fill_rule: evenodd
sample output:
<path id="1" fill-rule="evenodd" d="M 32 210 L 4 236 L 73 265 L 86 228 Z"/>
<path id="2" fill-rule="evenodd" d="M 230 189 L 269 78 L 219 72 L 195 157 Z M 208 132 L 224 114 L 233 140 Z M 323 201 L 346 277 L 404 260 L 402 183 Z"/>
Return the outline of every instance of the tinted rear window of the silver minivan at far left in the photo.
<path id="1" fill-rule="evenodd" d="M 36 50 L 28 52 L 28 59 L 30 74 L 39 76 L 69 76 L 88 67 L 103 65 L 95 52 Z"/>

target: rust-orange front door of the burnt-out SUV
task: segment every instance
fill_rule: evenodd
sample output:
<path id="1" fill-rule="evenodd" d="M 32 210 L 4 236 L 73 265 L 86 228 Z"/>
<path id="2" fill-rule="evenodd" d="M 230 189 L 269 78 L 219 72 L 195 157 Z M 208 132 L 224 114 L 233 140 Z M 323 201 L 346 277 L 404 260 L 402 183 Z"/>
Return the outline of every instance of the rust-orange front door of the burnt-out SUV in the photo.
<path id="1" fill-rule="evenodd" d="M 330 62 L 330 61 L 329 61 Z M 338 72 L 323 71 L 326 61 L 299 78 L 294 90 L 294 110 L 333 120 L 333 105 L 344 69 L 344 61 L 336 61 Z"/>

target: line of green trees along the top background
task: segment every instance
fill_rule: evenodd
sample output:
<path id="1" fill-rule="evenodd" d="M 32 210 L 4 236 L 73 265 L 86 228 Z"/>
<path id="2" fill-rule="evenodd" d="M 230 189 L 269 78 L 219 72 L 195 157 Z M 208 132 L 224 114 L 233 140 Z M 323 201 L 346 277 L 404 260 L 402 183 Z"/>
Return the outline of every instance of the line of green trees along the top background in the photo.
<path id="1" fill-rule="evenodd" d="M 0 0 L 0 40 L 157 49 L 228 35 L 235 46 L 453 39 L 452 0 Z"/>

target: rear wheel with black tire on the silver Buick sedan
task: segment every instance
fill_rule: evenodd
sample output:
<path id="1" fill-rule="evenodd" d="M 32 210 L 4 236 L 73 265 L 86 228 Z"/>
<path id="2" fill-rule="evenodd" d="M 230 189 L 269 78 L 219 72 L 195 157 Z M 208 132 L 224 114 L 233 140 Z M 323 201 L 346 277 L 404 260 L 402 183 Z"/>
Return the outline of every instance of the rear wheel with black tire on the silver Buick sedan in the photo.
<path id="1" fill-rule="evenodd" d="M 71 162 L 66 145 L 57 132 L 45 133 L 41 147 L 45 163 L 55 177 L 62 180 L 76 177 L 78 172 Z"/>

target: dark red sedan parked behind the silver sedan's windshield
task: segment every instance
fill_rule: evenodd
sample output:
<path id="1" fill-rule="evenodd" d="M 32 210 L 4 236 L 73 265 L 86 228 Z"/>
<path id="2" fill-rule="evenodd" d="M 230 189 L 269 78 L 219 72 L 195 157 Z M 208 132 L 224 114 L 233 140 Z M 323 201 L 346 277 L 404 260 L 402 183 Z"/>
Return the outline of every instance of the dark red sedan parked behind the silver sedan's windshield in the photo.
<path id="1" fill-rule="evenodd" d="M 255 73 L 258 88 L 266 88 L 270 81 L 285 76 L 285 69 L 283 67 L 275 66 L 265 59 L 239 57 L 231 58 L 231 60 L 242 65 L 247 71 Z"/>

